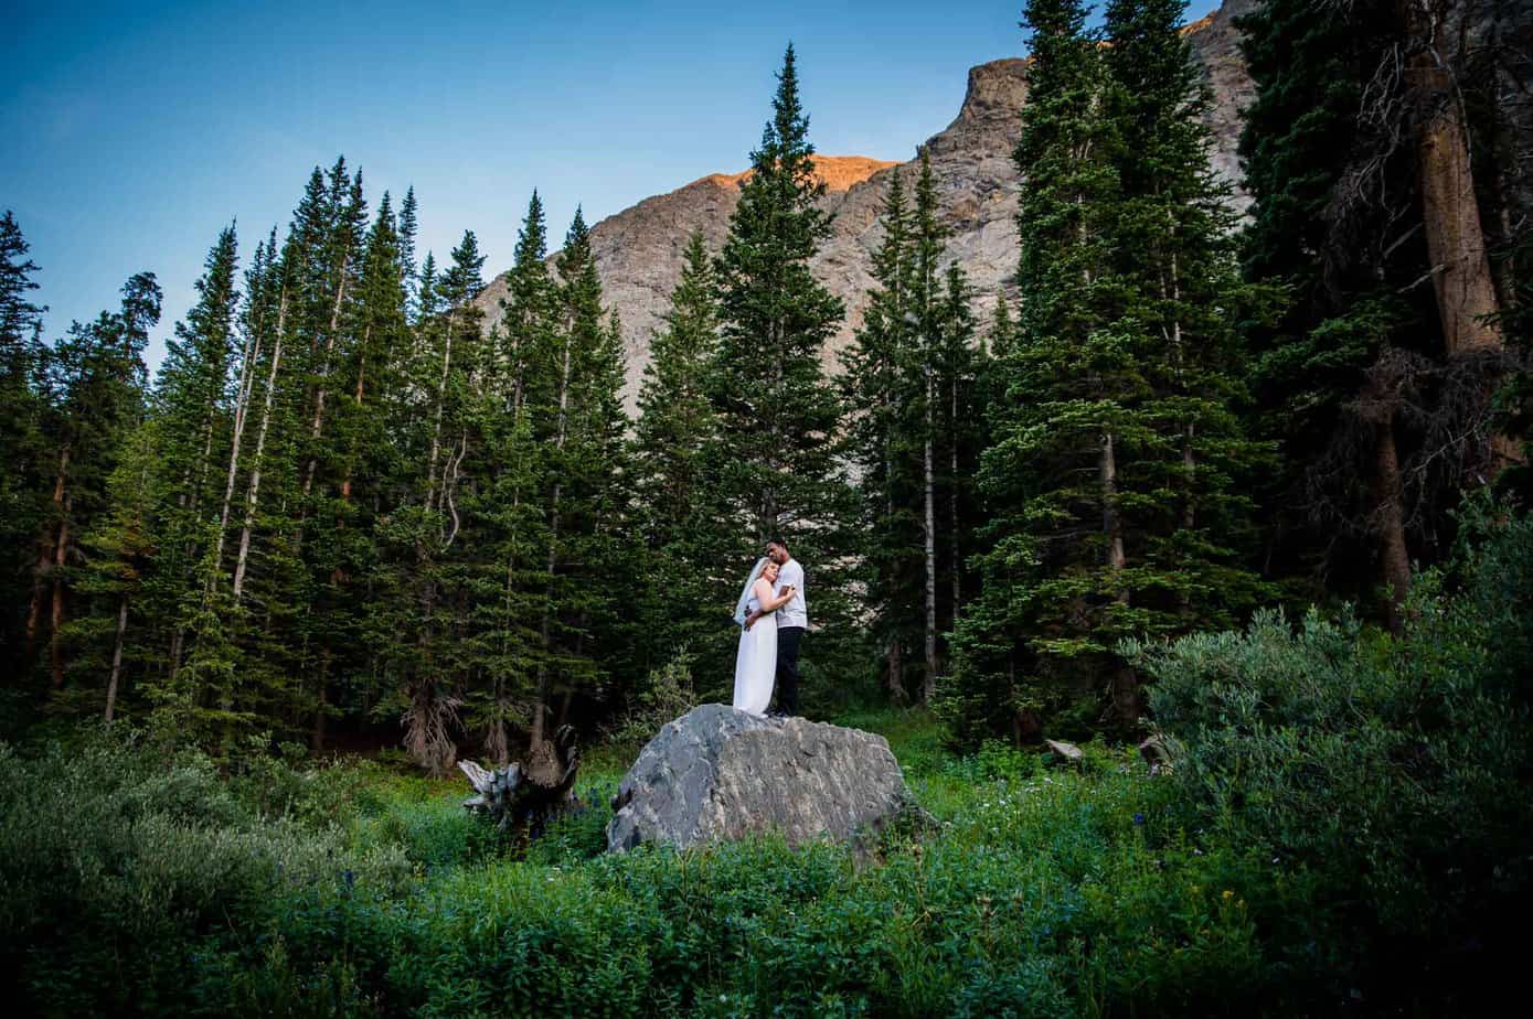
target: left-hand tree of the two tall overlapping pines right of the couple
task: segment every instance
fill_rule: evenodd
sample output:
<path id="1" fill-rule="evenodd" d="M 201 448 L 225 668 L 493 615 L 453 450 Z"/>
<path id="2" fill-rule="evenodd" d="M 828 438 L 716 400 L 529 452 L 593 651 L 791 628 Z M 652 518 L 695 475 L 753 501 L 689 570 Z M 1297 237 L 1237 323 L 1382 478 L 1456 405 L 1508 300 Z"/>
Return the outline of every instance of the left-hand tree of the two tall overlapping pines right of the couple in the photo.
<path id="1" fill-rule="evenodd" d="M 973 740 L 1001 726 L 1035 734 L 1042 713 L 1069 703 L 1073 660 L 1096 665 L 1122 631 L 1118 397 L 1134 380 L 1104 334 L 1114 287 L 1105 221 L 1118 181 L 1099 115 L 1099 37 L 1079 0 L 1035 0 L 1023 25 L 1032 29 L 1016 149 L 1023 314 L 998 365 L 1004 400 L 992 408 L 981 463 L 995 509 L 978 556 L 981 590 L 955 634 L 960 660 L 943 691 L 955 732 Z"/>

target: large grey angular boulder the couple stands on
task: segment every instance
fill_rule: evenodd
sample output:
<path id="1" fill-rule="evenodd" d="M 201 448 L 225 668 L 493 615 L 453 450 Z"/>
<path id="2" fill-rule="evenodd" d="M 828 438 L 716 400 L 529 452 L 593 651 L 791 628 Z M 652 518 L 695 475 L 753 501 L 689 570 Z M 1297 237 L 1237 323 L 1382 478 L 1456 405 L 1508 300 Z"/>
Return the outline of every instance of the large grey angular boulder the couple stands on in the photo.
<path id="1" fill-rule="evenodd" d="M 920 812 L 881 736 L 702 705 L 659 734 L 612 801 L 607 849 L 679 849 L 777 831 L 789 844 L 851 840 Z"/>

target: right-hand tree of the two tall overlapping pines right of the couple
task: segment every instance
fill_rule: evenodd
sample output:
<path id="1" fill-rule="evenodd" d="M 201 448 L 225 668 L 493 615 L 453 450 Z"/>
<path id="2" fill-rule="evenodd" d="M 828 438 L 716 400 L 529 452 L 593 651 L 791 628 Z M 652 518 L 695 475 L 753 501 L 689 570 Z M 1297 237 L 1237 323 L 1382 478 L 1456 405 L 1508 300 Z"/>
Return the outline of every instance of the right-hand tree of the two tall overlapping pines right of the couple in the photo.
<path id="1" fill-rule="evenodd" d="M 1239 417 L 1249 394 L 1236 326 L 1263 294 L 1239 279 L 1231 193 L 1210 165 L 1210 100 L 1179 31 L 1185 8 L 1185 0 L 1113 0 L 1107 9 L 1107 115 L 1122 188 L 1114 233 L 1127 297 L 1119 323 L 1154 351 L 1147 375 L 1160 443 L 1134 469 L 1167 513 L 1137 513 L 1157 535 L 1144 555 L 1168 572 L 1180 614 L 1223 628 L 1260 593 L 1245 565 L 1248 492 L 1272 458 Z"/>

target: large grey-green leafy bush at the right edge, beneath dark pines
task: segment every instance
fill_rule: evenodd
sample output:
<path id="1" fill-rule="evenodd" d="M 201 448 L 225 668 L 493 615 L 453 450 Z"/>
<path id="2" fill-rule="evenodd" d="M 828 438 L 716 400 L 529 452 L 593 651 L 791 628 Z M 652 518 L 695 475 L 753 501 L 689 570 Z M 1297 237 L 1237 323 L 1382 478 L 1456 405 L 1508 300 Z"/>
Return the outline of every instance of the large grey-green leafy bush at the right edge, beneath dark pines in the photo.
<path id="1" fill-rule="evenodd" d="M 1464 524 L 1400 641 L 1265 611 L 1125 648 L 1210 838 L 1314 883 L 1279 941 L 1331 994 L 1478 993 L 1533 887 L 1533 523 L 1472 507 Z"/>

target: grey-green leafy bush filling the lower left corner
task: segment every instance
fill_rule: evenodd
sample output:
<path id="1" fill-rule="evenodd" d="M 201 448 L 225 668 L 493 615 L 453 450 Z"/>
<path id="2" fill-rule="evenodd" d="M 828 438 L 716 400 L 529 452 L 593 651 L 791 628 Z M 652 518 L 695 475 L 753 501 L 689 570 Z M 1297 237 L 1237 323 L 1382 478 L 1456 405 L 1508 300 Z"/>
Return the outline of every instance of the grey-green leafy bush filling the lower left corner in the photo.
<path id="1" fill-rule="evenodd" d="M 25 1013 L 193 1008 L 198 947 L 290 895 L 397 895 L 396 850 L 262 818 L 196 754 L 0 745 L 0 970 Z"/>

